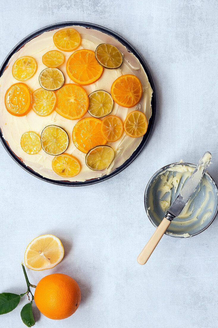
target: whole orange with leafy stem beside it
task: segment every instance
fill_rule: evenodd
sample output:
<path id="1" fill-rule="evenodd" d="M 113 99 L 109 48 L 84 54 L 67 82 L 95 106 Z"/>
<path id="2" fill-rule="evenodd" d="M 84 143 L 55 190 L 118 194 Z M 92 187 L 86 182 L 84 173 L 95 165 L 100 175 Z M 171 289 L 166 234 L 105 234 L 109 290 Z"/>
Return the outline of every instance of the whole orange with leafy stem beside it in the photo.
<path id="1" fill-rule="evenodd" d="M 34 300 L 45 317 L 54 320 L 65 319 L 70 317 L 80 305 L 80 287 L 73 278 L 55 273 L 39 281 Z"/>

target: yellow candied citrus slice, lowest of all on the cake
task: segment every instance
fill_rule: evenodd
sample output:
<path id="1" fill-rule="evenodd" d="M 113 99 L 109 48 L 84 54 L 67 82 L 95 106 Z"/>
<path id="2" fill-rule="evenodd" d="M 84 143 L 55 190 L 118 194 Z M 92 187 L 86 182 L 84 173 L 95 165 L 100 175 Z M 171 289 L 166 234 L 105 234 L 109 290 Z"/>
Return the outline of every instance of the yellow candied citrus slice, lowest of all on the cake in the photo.
<path id="1" fill-rule="evenodd" d="M 70 178 L 80 173 L 81 165 L 76 157 L 61 154 L 53 158 L 52 168 L 58 175 Z"/>

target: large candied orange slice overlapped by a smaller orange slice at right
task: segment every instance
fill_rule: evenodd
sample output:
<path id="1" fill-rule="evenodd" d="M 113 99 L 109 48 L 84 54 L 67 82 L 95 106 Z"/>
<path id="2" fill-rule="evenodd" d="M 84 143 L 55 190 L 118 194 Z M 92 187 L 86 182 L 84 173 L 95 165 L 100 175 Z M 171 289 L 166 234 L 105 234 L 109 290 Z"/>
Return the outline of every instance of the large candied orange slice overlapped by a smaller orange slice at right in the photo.
<path id="1" fill-rule="evenodd" d="M 91 148 L 105 145 L 107 140 L 101 133 L 101 120 L 95 117 L 82 118 L 73 128 L 74 145 L 82 152 L 87 153 Z"/>

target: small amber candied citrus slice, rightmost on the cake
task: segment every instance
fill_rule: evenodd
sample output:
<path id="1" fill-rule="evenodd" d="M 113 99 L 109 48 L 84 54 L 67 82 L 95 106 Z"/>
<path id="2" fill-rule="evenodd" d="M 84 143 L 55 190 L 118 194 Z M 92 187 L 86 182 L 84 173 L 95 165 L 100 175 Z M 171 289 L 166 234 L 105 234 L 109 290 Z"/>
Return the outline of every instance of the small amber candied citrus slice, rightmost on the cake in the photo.
<path id="1" fill-rule="evenodd" d="M 131 137 L 142 137 L 148 129 L 148 122 L 144 113 L 131 112 L 124 122 L 125 133 Z"/>

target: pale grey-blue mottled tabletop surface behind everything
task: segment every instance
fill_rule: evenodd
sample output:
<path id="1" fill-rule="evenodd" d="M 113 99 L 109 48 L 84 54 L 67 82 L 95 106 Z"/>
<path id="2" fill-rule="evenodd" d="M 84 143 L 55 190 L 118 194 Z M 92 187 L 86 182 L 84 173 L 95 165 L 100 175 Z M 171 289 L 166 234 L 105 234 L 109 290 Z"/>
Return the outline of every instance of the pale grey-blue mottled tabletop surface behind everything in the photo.
<path id="1" fill-rule="evenodd" d="M 145 266 L 136 257 L 154 232 L 144 210 L 150 177 L 180 160 L 212 154 L 218 182 L 217 2 L 214 0 L 16 0 L 0 4 L 0 62 L 27 34 L 61 21 L 87 21 L 118 32 L 142 54 L 154 78 L 152 135 L 134 163 L 97 185 L 70 188 L 20 168 L 0 145 L 0 290 L 26 291 L 21 261 L 36 236 L 54 234 L 65 256 L 49 271 L 75 278 L 77 312 L 63 321 L 40 315 L 36 327 L 218 327 L 218 220 L 186 239 L 163 236 Z M 20 310 L 0 327 L 25 327 Z"/>

